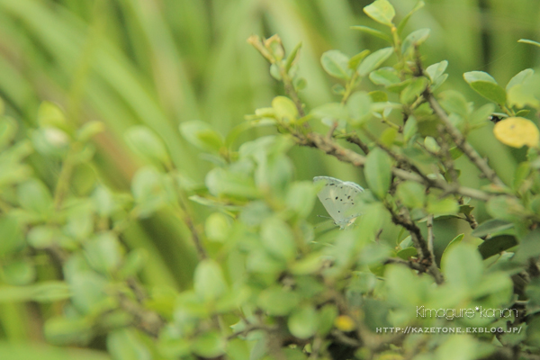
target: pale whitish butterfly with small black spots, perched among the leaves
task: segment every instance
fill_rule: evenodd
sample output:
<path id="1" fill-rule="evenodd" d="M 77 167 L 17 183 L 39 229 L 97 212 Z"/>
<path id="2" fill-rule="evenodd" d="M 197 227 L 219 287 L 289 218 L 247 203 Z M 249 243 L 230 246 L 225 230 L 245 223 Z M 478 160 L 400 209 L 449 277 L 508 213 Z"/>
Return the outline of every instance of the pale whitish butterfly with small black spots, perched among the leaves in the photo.
<path id="1" fill-rule="evenodd" d="M 351 214 L 350 210 L 356 204 L 356 196 L 364 191 L 362 186 L 330 176 L 315 176 L 313 182 L 325 183 L 317 196 L 340 229 L 345 229 L 360 215 L 359 213 Z"/>

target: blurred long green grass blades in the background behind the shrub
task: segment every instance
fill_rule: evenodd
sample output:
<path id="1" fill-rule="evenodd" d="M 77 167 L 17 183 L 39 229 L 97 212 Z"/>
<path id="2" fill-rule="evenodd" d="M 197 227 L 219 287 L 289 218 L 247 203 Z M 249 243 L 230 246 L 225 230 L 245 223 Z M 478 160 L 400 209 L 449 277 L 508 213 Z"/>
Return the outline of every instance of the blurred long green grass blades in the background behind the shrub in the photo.
<path id="1" fill-rule="evenodd" d="M 85 179 L 98 177 L 119 191 L 129 189 L 141 162 L 125 144 L 123 134 L 137 124 L 155 130 L 182 174 L 195 184 L 202 183 L 211 164 L 186 145 L 178 125 L 200 119 L 227 134 L 244 121 L 245 114 L 283 94 L 281 85 L 268 74 L 265 59 L 247 44 L 247 37 L 279 33 L 286 49 L 302 41 L 299 67 L 308 85 L 301 96 L 312 108 L 336 100 L 329 90 L 334 80 L 319 62 L 324 51 L 340 49 L 350 56 L 384 46 L 382 40 L 379 43 L 350 30 L 353 25 L 377 27 L 362 11 L 370 3 L 0 0 L 0 97 L 8 114 L 22 119 L 23 129 L 36 126 L 43 100 L 60 104 L 70 121 L 106 124 L 106 131 L 96 138 L 95 166 L 80 176 L 83 185 Z M 394 2 L 398 17 L 414 4 L 415 0 Z M 539 10 L 536 0 L 427 0 L 405 32 L 430 28 L 431 36 L 423 47 L 425 64 L 447 59 L 450 77 L 443 89 L 459 90 L 479 105 L 485 101 L 466 85 L 463 73 L 486 71 L 506 84 L 520 70 L 536 68 L 539 49 L 517 40 L 538 39 Z M 365 81 L 361 87 L 373 86 Z M 274 130 L 248 130 L 238 144 L 268 131 Z M 24 131 L 20 132 L 23 137 Z M 470 141 L 483 156 L 498 158 L 494 166 L 506 182 L 525 158 L 524 149 L 510 149 L 493 140 L 491 127 L 477 131 Z M 315 150 L 293 148 L 291 156 L 298 179 L 333 175 L 365 184 L 359 169 Z M 31 157 L 35 172 L 52 185 L 58 164 L 38 159 Z M 465 161 L 458 164 L 464 170 L 463 184 L 477 185 L 480 180 L 473 166 Z M 200 220 L 204 219 L 206 210 L 193 206 Z M 314 212 L 325 213 L 318 206 Z M 478 220 L 483 219 L 479 209 Z M 447 242 L 447 227 L 465 225 L 446 221 L 437 227 L 436 223 L 440 234 L 436 238 Z M 142 274 L 146 283 L 176 289 L 190 286 L 195 251 L 188 229 L 171 213 L 160 211 L 127 229 L 123 240 L 128 247 L 149 252 Z M 34 330 L 34 314 L 31 306 L 2 304 L 0 334 L 12 340 L 40 339 Z"/>

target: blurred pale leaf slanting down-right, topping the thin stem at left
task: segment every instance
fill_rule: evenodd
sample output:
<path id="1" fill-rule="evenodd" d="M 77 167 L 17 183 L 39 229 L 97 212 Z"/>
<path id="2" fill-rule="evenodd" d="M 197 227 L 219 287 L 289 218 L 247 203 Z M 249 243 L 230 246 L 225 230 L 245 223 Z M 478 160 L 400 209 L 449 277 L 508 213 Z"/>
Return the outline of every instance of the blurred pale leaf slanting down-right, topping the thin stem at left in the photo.
<path id="1" fill-rule="evenodd" d="M 137 154 L 151 161 L 170 164 L 171 159 L 165 144 L 152 130 L 146 126 L 137 125 L 128 129 L 124 135 L 127 144 Z"/>

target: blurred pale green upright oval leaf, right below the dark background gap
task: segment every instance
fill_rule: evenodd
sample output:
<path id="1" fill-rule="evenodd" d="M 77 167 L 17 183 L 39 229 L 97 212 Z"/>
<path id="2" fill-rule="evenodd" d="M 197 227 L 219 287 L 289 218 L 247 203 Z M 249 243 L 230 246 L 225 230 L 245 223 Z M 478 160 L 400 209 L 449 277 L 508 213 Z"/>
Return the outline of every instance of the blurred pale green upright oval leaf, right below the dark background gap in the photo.
<path id="1" fill-rule="evenodd" d="M 203 259 L 195 268 L 193 288 L 202 301 L 217 300 L 227 291 L 221 266 L 212 259 Z"/>

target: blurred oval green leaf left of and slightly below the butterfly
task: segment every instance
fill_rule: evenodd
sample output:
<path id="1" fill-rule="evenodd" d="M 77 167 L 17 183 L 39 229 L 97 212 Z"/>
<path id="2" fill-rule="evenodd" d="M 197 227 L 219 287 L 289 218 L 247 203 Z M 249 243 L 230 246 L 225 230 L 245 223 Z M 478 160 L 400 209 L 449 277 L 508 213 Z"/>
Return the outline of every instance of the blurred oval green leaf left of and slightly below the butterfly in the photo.
<path id="1" fill-rule="evenodd" d="M 261 239 L 266 251 L 279 259 L 289 261 L 296 256 L 293 231 L 284 220 L 276 217 L 265 220 Z"/>

